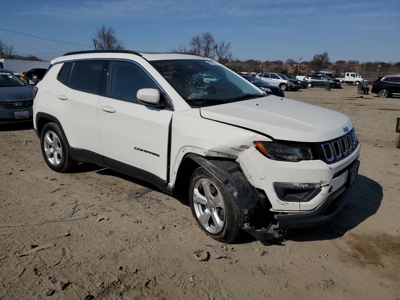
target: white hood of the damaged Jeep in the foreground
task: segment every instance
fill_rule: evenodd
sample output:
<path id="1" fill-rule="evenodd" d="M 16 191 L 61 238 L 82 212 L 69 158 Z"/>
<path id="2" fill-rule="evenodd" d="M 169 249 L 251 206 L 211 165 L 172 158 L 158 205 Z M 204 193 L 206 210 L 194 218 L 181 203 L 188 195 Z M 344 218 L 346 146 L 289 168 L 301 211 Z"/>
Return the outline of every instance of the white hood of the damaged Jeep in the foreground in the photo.
<path id="1" fill-rule="evenodd" d="M 353 128 L 344 114 L 304 102 L 266 96 L 200 109 L 203 118 L 262 132 L 276 140 L 324 142 Z"/>

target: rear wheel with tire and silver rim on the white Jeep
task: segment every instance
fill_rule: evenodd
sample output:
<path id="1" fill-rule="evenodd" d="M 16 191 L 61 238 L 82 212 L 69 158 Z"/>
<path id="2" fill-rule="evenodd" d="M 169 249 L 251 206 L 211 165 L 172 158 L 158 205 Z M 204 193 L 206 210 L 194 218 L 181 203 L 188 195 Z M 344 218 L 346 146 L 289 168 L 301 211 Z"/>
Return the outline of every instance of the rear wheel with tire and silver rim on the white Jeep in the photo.
<path id="1" fill-rule="evenodd" d="M 53 171 L 68 172 L 76 165 L 70 156 L 65 137 L 56 123 L 48 123 L 43 127 L 40 148 L 46 164 Z"/>

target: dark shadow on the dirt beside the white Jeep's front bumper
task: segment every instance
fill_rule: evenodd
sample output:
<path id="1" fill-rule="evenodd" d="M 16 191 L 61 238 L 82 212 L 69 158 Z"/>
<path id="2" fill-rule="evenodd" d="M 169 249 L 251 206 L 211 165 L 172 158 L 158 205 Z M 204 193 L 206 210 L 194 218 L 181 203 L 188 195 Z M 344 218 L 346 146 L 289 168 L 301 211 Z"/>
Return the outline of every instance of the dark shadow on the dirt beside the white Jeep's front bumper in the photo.
<path id="1" fill-rule="evenodd" d="M 286 240 L 303 242 L 339 238 L 374 215 L 382 198 L 382 186 L 378 182 L 358 175 L 346 204 L 336 216 L 319 226 L 292 230 Z"/>

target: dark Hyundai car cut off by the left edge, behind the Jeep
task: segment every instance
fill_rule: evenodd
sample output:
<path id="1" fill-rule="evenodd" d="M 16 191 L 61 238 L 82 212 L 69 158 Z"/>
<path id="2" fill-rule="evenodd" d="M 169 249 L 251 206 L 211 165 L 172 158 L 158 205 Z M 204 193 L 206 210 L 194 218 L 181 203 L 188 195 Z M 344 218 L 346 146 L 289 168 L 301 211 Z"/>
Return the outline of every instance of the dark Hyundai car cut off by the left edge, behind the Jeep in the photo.
<path id="1" fill-rule="evenodd" d="M 34 88 L 0 69 L 0 124 L 31 121 Z"/>

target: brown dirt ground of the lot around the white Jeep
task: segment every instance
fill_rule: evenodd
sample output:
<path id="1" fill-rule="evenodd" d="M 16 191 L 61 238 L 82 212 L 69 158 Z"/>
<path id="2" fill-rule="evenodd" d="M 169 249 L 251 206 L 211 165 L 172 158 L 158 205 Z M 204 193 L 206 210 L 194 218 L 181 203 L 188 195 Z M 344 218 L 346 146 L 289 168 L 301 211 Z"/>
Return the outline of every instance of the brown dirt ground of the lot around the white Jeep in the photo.
<path id="1" fill-rule="evenodd" d="M 53 172 L 32 126 L 2 126 L 0 299 L 399 299 L 400 99 L 358 98 L 356 90 L 285 93 L 346 114 L 361 165 L 352 197 L 330 222 L 272 246 L 251 237 L 218 243 L 198 228 L 185 197 L 114 171 L 80 164 Z M 88 217 L 42 224 L 72 210 L 72 218 Z M 206 245 L 231 258 L 196 261 Z M 57 290 L 58 282 L 67 287 Z"/>

